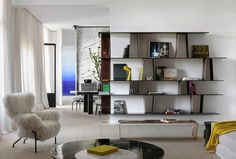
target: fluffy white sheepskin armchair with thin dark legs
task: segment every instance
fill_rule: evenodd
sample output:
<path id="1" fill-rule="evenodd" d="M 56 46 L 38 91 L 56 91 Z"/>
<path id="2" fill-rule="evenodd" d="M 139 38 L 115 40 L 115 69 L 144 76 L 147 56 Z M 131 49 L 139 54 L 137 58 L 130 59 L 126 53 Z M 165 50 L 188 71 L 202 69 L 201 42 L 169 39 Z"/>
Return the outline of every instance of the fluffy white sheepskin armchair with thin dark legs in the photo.
<path id="1" fill-rule="evenodd" d="M 7 114 L 17 128 L 19 139 L 13 144 L 25 138 L 35 140 L 35 152 L 37 152 L 37 140 L 45 141 L 55 137 L 60 130 L 59 114 L 56 111 L 45 110 L 32 112 L 35 106 L 35 98 L 32 93 L 14 93 L 4 97 L 3 103 Z"/>

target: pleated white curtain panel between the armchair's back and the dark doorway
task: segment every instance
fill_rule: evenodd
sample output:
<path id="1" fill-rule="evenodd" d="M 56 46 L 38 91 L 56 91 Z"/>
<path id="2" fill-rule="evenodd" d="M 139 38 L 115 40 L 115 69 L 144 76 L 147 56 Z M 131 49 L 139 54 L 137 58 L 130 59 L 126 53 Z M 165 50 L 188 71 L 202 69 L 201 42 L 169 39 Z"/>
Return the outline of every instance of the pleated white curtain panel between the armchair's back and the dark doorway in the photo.
<path id="1" fill-rule="evenodd" d="M 48 108 L 43 65 L 43 25 L 23 8 L 15 10 L 15 52 L 20 54 L 22 92 L 32 92 L 36 104 Z"/>

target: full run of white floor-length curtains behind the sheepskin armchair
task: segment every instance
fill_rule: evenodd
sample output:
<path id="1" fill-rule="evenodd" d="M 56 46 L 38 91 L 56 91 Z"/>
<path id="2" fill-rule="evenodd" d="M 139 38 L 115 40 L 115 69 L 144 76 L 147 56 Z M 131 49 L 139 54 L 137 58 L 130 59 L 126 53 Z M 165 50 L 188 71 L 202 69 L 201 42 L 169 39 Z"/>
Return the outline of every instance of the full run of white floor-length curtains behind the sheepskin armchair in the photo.
<path id="1" fill-rule="evenodd" d="M 36 104 L 48 108 L 43 69 L 43 26 L 26 9 L 0 0 L 0 134 L 11 130 L 2 98 L 32 92 Z"/>

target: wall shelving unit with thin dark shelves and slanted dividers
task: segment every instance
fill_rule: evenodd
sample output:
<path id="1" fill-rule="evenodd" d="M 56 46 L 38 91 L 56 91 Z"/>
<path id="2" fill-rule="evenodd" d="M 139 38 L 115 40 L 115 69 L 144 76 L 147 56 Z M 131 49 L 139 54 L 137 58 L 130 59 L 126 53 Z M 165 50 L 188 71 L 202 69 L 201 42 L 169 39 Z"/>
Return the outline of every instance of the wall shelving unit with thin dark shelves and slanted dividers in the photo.
<path id="1" fill-rule="evenodd" d="M 167 108 L 181 109 L 187 114 L 216 115 L 217 112 L 205 111 L 204 103 L 208 97 L 218 98 L 220 83 L 223 81 L 213 70 L 215 61 L 225 57 L 192 58 L 192 45 L 208 45 L 201 41 L 207 32 L 191 33 L 111 33 L 110 55 L 110 110 L 114 113 L 114 101 L 125 100 L 127 114 L 163 114 Z M 199 39 L 199 40 L 198 40 Z M 149 42 L 170 42 L 169 58 L 149 58 Z M 129 58 L 122 58 L 124 48 L 130 45 Z M 107 59 L 104 59 L 107 60 Z M 127 64 L 132 69 L 131 81 L 115 81 L 113 65 Z M 217 63 L 219 64 L 219 63 Z M 178 80 L 156 80 L 155 67 L 166 66 L 178 69 Z M 139 69 L 144 68 L 143 80 L 139 80 Z M 145 77 L 152 76 L 154 80 L 147 81 Z M 187 82 L 182 77 L 194 77 L 197 95 L 189 95 Z M 138 91 L 130 94 L 130 85 L 135 84 Z M 164 95 L 148 95 L 150 91 L 162 91 Z M 185 115 L 185 114 L 182 114 Z"/>

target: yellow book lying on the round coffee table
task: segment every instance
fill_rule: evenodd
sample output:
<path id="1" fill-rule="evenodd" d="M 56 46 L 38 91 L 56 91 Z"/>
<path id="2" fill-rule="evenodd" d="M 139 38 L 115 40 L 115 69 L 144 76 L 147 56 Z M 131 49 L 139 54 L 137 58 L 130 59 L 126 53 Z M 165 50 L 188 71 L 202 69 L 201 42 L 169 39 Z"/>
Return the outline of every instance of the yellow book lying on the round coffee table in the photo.
<path id="1" fill-rule="evenodd" d="M 101 156 L 104 156 L 104 155 L 107 155 L 109 153 L 116 152 L 116 151 L 118 151 L 118 147 L 110 146 L 110 145 L 101 145 L 101 146 L 89 148 L 87 150 L 88 153 L 93 153 L 93 154 L 101 155 Z"/>

